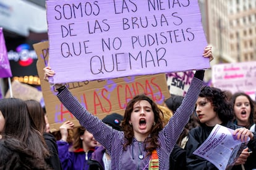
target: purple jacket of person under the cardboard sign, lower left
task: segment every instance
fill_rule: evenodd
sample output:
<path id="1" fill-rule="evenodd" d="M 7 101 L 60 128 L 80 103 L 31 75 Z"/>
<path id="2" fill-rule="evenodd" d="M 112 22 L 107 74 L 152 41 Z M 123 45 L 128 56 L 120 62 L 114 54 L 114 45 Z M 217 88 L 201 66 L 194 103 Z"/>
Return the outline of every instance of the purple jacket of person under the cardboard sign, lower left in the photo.
<path id="1" fill-rule="evenodd" d="M 58 140 L 59 160 L 61 160 L 62 169 L 64 170 L 82 170 L 88 169 L 88 163 L 90 156 L 92 156 L 93 150 L 85 153 L 82 148 L 69 152 L 69 143 Z"/>

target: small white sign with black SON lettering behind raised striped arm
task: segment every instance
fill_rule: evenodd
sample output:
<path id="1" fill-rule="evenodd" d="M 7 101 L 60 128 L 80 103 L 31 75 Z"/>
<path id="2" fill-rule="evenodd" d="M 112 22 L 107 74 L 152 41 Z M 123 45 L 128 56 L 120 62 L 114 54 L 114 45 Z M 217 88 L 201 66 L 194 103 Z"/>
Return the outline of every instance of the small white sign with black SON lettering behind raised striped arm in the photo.
<path id="1" fill-rule="evenodd" d="M 193 71 L 166 74 L 170 94 L 185 96 L 193 77 Z"/>

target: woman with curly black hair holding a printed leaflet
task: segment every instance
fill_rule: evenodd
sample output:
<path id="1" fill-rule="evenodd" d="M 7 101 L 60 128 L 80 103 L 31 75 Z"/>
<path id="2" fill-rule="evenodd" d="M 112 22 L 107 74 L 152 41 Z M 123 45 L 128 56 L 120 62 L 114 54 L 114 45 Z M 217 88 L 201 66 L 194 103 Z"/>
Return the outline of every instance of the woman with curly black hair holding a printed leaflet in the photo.
<path id="1" fill-rule="evenodd" d="M 256 150 L 256 134 L 233 123 L 233 108 L 228 103 L 226 94 L 220 89 L 208 86 L 203 87 L 195 104 L 195 112 L 200 126 L 191 129 L 189 132 L 189 140 L 186 145 L 188 169 L 218 169 L 210 161 L 193 154 L 207 139 L 216 124 L 236 129 L 237 137 L 240 137 L 241 140 L 244 140 L 245 137 L 250 137 L 247 147 L 251 150 Z M 242 169 L 241 164 L 245 163 L 249 154 L 248 148 L 245 148 L 233 169 Z"/>

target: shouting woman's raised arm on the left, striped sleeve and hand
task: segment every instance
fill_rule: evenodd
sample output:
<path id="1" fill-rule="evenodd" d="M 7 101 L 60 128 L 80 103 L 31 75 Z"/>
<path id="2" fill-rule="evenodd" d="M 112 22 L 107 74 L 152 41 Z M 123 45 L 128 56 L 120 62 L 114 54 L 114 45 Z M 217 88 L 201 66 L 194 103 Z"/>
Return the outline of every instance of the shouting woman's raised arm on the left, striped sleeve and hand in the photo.
<path id="1" fill-rule="evenodd" d="M 50 67 L 45 67 L 45 80 L 48 81 L 49 76 L 54 76 L 55 73 Z M 123 132 L 117 131 L 112 127 L 106 125 L 97 116 L 91 114 L 87 108 L 72 95 L 64 84 L 54 84 L 58 90 L 57 97 L 59 101 L 72 113 L 72 115 L 79 120 L 81 126 L 85 127 L 88 132 L 92 133 L 95 139 L 100 142 L 107 150 L 111 151 L 114 148 L 112 143 L 119 143 L 119 139 L 113 136 L 123 136 Z"/>

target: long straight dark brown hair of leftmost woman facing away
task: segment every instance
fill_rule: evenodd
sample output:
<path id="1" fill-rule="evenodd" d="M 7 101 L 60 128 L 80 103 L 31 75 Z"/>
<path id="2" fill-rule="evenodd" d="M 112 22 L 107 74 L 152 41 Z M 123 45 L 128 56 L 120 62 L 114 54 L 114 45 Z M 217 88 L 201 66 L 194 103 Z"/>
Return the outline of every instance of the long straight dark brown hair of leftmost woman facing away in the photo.
<path id="1" fill-rule="evenodd" d="M 36 152 L 36 156 L 40 158 L 49 156 L 45 140 L 36 129 L 23 100 L 15 98 L 1 99 L 0 111 L 5 119 L 4 129 L 2 130 L 3 139 L 6 136 L 14 137 L 27 144 L 31 150 Z"/>

